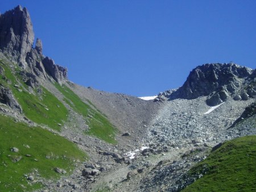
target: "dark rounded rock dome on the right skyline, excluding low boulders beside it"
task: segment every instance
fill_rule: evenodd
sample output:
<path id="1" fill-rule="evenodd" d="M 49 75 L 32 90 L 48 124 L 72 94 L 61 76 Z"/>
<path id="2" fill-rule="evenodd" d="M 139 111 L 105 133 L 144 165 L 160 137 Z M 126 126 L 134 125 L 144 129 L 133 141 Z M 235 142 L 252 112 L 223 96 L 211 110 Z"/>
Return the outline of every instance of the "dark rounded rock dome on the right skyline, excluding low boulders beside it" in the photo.
<path id="1" fill-rule="evenodd" d="M 252 70 L 236 64 L 205 64 L 197 66 L 189 74 L 180 89 L 180 96 L 187 99 L 206 96 L 225 89 L 233 93 L 241 86 Z"/>

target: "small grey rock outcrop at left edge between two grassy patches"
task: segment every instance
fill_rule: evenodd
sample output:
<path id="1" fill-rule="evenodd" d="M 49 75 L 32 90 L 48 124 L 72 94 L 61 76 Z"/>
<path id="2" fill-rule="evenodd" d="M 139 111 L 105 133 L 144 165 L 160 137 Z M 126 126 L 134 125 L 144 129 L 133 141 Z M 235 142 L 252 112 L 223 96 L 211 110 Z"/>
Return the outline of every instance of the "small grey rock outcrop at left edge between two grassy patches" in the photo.
<path id="1" fill-rule="evenodd" d="M 13 93 L 10 89 L 0 86 L 0 102 L 9 105 L 11 108 L 18 112 L 22 112 L 22 108 L 14 98 Z"/>

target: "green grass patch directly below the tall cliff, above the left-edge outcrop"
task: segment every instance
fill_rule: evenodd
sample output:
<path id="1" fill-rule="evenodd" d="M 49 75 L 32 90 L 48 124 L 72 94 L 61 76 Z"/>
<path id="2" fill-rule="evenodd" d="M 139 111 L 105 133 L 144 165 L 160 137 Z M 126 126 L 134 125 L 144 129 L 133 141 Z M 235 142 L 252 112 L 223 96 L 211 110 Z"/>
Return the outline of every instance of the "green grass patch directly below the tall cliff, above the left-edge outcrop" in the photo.
<path id="1" fill-rule="evenodd" d="M 55 130 L 60 130 L 58 124 L 63 124 L 68 116 L 68 110 L 63 103 L 42 86 L 38 87 L 42 94 L 39 94 L 38 90 L 34 90 L 34 95 L 29 93 L 26 90 L 27 85 L 19 80 L 22 86 L 17 89 L 14 85 L 18 85 L 15 78 L 15 76 L 19 77 L 18 72 L 12 72 L 9 65 L 5 64 L 2 60 L 0 60 L 0 65 L 5 69 L 4 77 L 0 77 L 0 83 L 13 91 L 15 98 L 23 109 L 24 115 L 35 123 L 46 124 Z"/>

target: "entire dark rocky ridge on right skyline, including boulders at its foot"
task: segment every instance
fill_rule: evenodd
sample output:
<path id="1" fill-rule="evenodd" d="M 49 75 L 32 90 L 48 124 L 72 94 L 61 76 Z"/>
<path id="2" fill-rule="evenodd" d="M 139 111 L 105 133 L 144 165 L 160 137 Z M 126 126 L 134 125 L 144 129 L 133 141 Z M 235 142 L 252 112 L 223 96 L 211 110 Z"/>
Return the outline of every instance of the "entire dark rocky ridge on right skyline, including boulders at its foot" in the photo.
<path id="1" fill-rule="evenodd" d="M 209 106 L 218 105 L 229 97 L 247 100 L 256 96 L 255 70 L 236 64 L 205 64 L 197 66 L 177 90 L 159 94 L 158 99 L 195 99 L 208 96 Z"/>

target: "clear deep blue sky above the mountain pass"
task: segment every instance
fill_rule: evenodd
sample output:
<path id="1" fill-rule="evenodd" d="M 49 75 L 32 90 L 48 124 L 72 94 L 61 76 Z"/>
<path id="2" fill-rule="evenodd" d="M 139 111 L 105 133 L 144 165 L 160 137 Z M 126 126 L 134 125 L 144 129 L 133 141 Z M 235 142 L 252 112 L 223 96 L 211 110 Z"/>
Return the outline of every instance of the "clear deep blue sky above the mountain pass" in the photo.
<path id="1" fill-rule="evenodd" d="M 183 85 L 208 62 L 256 67 L 256 1 L 1 1 L 27 7 L 69 79 L 136 96 Z"/>

